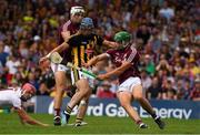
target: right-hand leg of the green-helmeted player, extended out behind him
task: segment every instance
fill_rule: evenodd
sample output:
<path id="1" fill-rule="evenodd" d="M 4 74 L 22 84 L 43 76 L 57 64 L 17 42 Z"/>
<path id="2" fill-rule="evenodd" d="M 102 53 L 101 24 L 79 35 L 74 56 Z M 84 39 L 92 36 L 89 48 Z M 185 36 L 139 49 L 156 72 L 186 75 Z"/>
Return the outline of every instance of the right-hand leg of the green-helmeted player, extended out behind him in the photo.
<path id="1" fill-rule="evenodd" d="M 138 84 L 138 85 L 133 86 L 132 95 L 133 95 L 134 100 L 139 101 L 142 108 L 144 108 L 153 117 L 153 120 L 158 124 L 158 126 L 161 129 L 163 129 L 164 128 L 164 123 L 156 114 L 156 112 L 153 111 L 153 108 L 152 108 L 151 104 L 149 103 L 149 101 L 143 96 L 141 84 Z"/>

